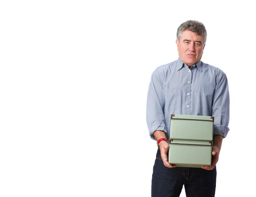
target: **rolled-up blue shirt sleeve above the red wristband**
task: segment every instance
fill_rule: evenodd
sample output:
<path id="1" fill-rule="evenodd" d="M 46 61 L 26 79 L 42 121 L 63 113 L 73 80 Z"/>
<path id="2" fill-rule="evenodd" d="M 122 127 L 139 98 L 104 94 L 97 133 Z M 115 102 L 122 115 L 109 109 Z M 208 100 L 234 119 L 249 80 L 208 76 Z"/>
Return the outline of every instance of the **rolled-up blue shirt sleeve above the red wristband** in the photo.
<path id="1" fill-rule="evenodd" d="M 163 97 L 163 75 L 155 70 L 151 75 L 151 81 L 148 88 L 146 121 L 149 135 L 154 138 L 154 131 L 160 130 L 167 133 L 165 119 L 163 115 L 164 97 Z"/>

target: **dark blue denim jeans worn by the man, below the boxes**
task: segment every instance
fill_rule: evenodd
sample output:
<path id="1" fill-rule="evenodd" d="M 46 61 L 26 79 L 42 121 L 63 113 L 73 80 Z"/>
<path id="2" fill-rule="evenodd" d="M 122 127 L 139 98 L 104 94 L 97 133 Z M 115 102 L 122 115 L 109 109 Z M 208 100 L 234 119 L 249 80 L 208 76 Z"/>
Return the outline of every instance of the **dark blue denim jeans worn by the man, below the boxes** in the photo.
<path id="1" fill-rule="evenodd" d="M 151 197 L 179 197 L 183 185 L 186 197 L 214 197 L 216 167 L 213 170 L 167 168 L 163 165 L 158 149 L 153 168 Z"/>

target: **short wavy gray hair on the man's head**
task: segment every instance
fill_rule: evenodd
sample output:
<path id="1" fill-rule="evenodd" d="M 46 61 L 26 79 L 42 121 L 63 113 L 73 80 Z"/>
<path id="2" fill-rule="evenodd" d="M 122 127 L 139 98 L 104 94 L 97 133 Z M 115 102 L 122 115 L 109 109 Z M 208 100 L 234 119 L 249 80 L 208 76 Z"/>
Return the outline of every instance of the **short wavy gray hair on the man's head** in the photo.
<path id="1" fill-rule="evenodd" d="M 182 33 L 185 30 L 190 30 L 195 32 L 197 35 L 203 35 L 204 37 L 204 44 L 206 43 L 207 32 L 203 23 L 197 20 L 187 20 L 186 22 L 182 23 L 179 28 L 177 29 L 177 40 L 180 42 L 182 37 Z"/>

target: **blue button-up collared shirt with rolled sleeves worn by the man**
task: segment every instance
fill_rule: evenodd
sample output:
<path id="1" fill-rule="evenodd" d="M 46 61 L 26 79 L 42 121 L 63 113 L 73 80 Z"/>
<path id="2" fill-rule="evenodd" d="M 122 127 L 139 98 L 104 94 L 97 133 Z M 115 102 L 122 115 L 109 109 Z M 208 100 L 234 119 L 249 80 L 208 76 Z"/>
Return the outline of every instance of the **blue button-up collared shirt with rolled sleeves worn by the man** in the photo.
<path id="1" fill-rule="evenodd" d="M 226 74 L 199 61 L 189 69 L 180 58 L 159 66 L 148 88 L 146 121 L 152 139 L 161 130 L 170 137 L 171 114 L 214 116 L 213 135 L 229 131 L 229 90 Z"/>

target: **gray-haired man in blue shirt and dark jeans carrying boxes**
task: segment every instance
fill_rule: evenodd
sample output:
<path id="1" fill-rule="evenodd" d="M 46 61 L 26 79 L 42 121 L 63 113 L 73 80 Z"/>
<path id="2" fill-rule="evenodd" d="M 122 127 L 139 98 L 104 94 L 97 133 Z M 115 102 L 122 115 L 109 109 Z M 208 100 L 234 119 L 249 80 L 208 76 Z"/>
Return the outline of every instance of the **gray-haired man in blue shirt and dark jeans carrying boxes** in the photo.
<path id="1" fill-rule="evenodd" d="M 149 134 L 158 141 L 151 196 L 179 197 L 184 185 L 187 197 L 214 197 L 216 163 L 222 139 L 229 131 L 229 90 L 226 74 L 201 61 L 207 31 L 188 20 L 177 29 L 179 58 L 159 66 L 151 76 L 147 97 Z M 176 167 L 168 163 L 171 114 L 214 116 L 212 165 Z"/>

